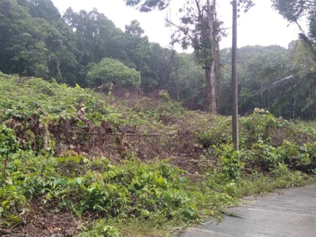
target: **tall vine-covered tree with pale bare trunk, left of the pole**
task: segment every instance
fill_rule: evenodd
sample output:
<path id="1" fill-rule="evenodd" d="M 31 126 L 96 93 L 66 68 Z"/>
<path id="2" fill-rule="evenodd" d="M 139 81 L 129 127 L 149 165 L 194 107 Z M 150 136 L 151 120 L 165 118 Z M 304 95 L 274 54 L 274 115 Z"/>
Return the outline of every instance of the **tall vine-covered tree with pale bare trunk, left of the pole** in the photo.
<path id="1" fill-rule="evenodd" d="M 126 5 L 136 6 L 141 12 L 153 9 L 163 10 L 169 5 L 170 0 L 125 0 Z M 219 90 L 219 45 L 221 38 L 221 22 L 216 17 L 216 0 L 188 1 L 191 3 L 179 12 L 180 25 L 166 19 L 168 26 L 175 26 L 172 43 L 180 43 L 186 49 L 192 46 L 196 57 L 203 64 L 205 70 L 205 105 L 206 111 L 217 113 Z"/>

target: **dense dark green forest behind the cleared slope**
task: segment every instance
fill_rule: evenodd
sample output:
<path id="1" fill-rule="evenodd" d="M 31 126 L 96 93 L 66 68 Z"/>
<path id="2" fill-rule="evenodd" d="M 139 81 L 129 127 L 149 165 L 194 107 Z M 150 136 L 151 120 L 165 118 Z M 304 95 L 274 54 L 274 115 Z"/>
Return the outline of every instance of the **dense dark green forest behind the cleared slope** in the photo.
<path id="1" fill-rule="evenodd" d="M 74 12 L 69 8 L 61 15 L 50 0 L 2 0 L 0 14 L 0 70 L 4 73 L 54 78 L 82 87 L 114 83 L 143 94 L 167 90 L 187 108 L 205 109 L 200 60 L 194 53 L 177 53 L 149 42 L 136 20 L 122 31 L 97 9 Z M 308 46 L 315 39 L 313 14 L 309 12 L 308 37 L 301 34 L 287 49 L 245 46 L 238 50 L 240 114 L 261 107 L 279 117 L 315 118 L 313 82 L 302 79 L 314 75 L 314 49 Z M 231 51 L 226 48 L 219 54 L 218 112 L 227 115 Z M 295 80 L 280 83 L 289 76 Z"/>

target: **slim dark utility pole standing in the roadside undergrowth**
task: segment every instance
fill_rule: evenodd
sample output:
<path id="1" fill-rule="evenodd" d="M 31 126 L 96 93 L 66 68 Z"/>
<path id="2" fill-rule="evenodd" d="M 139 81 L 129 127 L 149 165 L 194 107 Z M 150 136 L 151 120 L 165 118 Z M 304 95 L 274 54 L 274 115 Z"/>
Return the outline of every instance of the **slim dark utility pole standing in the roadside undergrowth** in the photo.
<path id="1" fill-rule="evenodd" d="M 233 45 L 232 45 L 232 136 L 236 151 L 239 151 L 238 95 L 237 95 L 237 0 L 233 0 Z"/>

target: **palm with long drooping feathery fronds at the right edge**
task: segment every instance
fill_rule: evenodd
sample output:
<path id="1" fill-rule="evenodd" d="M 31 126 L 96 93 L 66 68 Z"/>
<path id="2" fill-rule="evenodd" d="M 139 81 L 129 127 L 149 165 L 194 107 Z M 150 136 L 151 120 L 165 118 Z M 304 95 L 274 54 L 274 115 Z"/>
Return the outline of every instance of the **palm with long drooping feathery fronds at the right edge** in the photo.
<path id="1" fill-rule="evenodd" d="M 279 92 L 276 93 L 274 104 L 279 104 L 280 115 L 281 101 L 289 95 L 292 96 L 293 119 L 299 97 L 307 98 L 303 109 L 315 106 L 316 102 L 316 14 L 314 12 L 310 11 L 308 18 L 308 36 L 303 31 L 299 34 L 299 39 L 293 46 L 291 60 L 265 68 L 258 75 L 262 82 L 261 94 L 269 93 L 271 90 Z"/>

